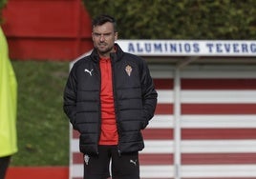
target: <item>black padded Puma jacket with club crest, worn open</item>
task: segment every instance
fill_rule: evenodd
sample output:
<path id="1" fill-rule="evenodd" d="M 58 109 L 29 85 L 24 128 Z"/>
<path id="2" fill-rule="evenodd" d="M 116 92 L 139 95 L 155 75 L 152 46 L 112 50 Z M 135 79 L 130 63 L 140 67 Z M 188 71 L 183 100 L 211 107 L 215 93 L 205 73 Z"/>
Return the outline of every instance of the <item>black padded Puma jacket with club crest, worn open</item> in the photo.
<path id="1" fill-rule="evenodd" d="M 141 129 L 153 117 L 158 93 L 147 64 L 139 56 L 122 51 L 111 53 L 113 94 L 117 118 L 118 151 L 144 148 Z M 79 149 L 85 154 L 98 153 L 100 136 L 99 56 L 93 50 L 73 66 L 64 89 L 64 111 L 73 128 L 80 133 Z"/>

